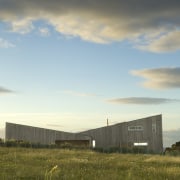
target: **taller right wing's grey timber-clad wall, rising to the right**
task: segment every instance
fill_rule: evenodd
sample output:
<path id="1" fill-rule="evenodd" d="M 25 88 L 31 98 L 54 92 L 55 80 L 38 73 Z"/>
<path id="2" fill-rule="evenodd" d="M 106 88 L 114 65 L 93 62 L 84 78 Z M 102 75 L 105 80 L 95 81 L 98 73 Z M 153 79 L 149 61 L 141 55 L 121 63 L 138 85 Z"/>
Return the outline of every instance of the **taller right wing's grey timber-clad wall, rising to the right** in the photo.
<path id="1" fill-rule="evenodd" d="M 141 129 L 129 130 L 128 127 Z M 161 115 L 92 129 L 81 134 L 90 136 L 99 148 L 132 148 L 134 143 L 147 143 L 147 151 L 156 153 L 163 151 Z"/>

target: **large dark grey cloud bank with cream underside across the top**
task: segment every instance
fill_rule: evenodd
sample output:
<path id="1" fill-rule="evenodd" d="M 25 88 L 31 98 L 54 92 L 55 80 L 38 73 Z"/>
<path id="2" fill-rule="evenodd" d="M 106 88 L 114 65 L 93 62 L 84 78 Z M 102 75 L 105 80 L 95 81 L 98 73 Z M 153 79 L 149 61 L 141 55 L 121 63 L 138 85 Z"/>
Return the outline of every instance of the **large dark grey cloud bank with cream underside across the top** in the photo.
<path id="1" fill-rule="evenodd" d="M 0 19 L 15 32 L 27 33 L 33 22 L 45 20 L 67 36 L 96 43 L 129 40 L 164 52 L 180 32 L 179 7 L 179 0 L 0 0 Z M 171 51 L 179 48 L 176 42 Z"/>

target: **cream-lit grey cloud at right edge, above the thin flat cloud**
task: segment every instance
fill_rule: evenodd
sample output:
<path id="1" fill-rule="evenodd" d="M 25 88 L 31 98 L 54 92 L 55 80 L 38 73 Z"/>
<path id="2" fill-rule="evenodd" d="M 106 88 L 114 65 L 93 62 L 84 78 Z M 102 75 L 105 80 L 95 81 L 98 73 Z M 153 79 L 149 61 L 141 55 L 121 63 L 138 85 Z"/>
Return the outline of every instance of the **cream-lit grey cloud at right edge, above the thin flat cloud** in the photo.
<path id="1" fill-rule="evenodd" d="M 180 67 L 134 70 L 131 73 L 145 78 L 143 86 L 147 88 L 180 88 Z"/>

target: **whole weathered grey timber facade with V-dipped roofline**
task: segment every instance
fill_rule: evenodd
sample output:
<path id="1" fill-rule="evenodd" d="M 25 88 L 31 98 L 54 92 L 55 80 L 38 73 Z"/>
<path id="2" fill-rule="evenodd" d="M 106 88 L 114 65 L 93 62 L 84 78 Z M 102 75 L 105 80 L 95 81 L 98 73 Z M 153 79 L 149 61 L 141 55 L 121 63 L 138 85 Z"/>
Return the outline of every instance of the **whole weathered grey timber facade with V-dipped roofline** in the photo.
<path id="1" fill-rule="evenodd" d="M 89 140 L 89 145 L 97 148 L 143 147 L 148 152 L 161 153 L 163 151 L 162 115 L 118 123 L 80 133 L 6 123 L 5 138 L 41 144 L 54 144 L 56 141 L 66 140 Z"/>

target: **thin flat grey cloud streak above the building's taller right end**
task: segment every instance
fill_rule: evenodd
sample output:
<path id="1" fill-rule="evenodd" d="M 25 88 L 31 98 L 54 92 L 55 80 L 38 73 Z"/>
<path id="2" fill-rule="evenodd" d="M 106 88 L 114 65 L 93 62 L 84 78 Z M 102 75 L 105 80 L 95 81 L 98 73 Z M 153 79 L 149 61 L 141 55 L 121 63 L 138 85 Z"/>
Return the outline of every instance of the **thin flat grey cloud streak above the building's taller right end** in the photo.
<path id="1" fill-rule="evenodd" d="M 151 98 L 151 97 L 128 97 L 128 98 L 115 98 L 107 100 L 109 103 L 116 104 L 139 104 L 139 105 L 158 105 L 170 102 L 180 102 L 177 99 L 166 98 Z"/>

